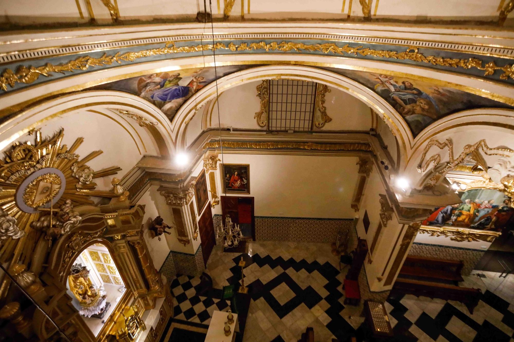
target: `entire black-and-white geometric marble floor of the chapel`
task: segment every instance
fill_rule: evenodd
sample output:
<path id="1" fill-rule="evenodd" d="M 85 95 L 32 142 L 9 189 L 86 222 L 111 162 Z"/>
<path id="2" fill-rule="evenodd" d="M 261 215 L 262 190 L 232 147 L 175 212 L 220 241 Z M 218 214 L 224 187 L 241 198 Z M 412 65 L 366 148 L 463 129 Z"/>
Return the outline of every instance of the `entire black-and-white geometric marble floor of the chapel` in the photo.
<path id="1" fill-rule="evenodd" d="M 338 258 L 329 244 L 252 242 L 252 263 L 245 268 L 245 284 L 252 300 L 243 341 L 297 341 L 313 327 L 316 341 L 346 340 L 362 335 L 362 306 L 344 306 Z M 238 280 L 238 253 L 213 250 L 207 273 L 213 279 L 213 297 L 196 296 L 199 279 L 180 276 L 172 282 L 175 319 L 208 325 L 214 310 L 227 310 L 221 289 Z M 459 302 L 405 295 L 386 303 L 395 335 L 409 341 L 511 342 L 514 334 L 514 275 L 497 280 L 487 275 L 494 292 L 476 276 L 467 281 L 483 287 L 484 296 L 471 315 Z M 503 278 L 502 278 L 503 279 Z M 469 286 L 469 284 L 466 284 Z M 507 300 L 506 300 L 507 299 Z M 359 329 L 360 328 L 360 329 Z M 400 338 L 400 337 L 398 337 Z"/>

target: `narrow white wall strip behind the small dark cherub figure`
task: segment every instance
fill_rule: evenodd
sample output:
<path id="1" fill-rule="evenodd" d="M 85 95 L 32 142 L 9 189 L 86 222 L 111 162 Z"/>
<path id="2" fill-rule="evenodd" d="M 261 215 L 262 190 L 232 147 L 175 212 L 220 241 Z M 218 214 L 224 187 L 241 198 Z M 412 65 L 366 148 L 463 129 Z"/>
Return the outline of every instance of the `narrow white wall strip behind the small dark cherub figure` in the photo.
<path id="1" fill-rule="evenodd" d="M 152 225 L 152 220 L 159 216 L 159 213 L 157 212 L 155 199 L 150 195 L 151 193 L 155 193 L 156 191 L 157 186 L 151 186 L 150 189 L 148 189 L 148 191 L 146 191 L 143 194 L 143 196 L 141 196 L 137 204 L 145 205 L 143 217 L 143 237 L 144 241 L 146 242 L 146 245 L 148 246 L 148 251 L 150 253 L 150 256 L 152 257 L 154 266 L 157 270 L 159 270 L 162 266 L 162 263 L 164 262 L 164 260 L 166 260 L 166 257 L 170 253 L 170 249 L 168 248 L 168 244 L 166 243 L 167 234 L 161 235 L 161 240 L 159 241 L 157 238 L 151 238 L 151 232 L 148 230 L 148 228 Z M 169 221 L 166 220 L 164 220 L 164 223 L 170 224 Z"/>

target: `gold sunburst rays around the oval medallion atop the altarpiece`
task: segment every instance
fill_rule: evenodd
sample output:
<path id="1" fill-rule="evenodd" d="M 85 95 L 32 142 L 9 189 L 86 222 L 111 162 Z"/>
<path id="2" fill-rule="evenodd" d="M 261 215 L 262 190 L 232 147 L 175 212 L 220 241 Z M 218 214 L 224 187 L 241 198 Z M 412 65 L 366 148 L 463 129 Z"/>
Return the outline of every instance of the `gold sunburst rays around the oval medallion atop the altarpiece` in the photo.
<path id="1" fill-rule="evenodd" d="M 20 239 L 7 238 L 0 240 L 0 262 L 9 262 L 10 264 L 23 262 L 30 268 L 36 245 L 43 241 L 46 236 L 45 231 L 34 230 L 31 227 L 33 221 L 40 219 L 41 212 L 30 213 L 26 208 L 21 210 L 19 203 L 16 202 L 18 192 L 25 192 L 25 183 L 27 177 L 38 176 L 33 175 L 34 172 L 45 173 L 41 171 L 44 168 L 53 168 L 53 173 L 61 174 L 63 177 L 61 186 L 64 187 L 62 196 L 48 198 L 48 201 L 41 205 L 52 203 L 54 211 L 58 212 L 61 205 L 66 200 L 71 200 L 74 206 L 82 204 L 95 204 L 92 197 L 114 198 L 117 197 L 112 191 L 96 190 L 97 183 L 89 182 L 82 184 L 81 189 L 77 189 L 80 177 L 74 174 L 72 166 L 76 163 L 79 170 L 84 171 L 88 166 L 86 163 L 102 154 L 101 150 L 95 150 L 80 158 L 76 154 L 79 147 L 84 142 L 83 138 L 77 138 L 69 148 L 62 144 L 64 139 L 64 130 L 60 129 L 53 136 L 42 137 L 39 130 L 32 132 L 34 136 L 32 142 L 16 142 L 13 146 L 4 152 L 3 160 L 0 160 L 0 207 L 2 207 L 11 217 L 16 219 L 17 226 L 25 232 Z M 55 170 L 57 169 L 57 170 Z M 58 172 L 59 170 L 59 172 Z M 121 170 L 118 166 L 102 168 L 93 173 L 93 178 L 98 179 L 105 176 L 117 174 Z M 49 172 L 52 172 L 50 169 Z M 24 188 L 21 186 L 24 184 Z M 51 183 L 53 184 L 53 183 Z M 38 203 L 40 204 L 40 203 Z M 45 213 L 45 215 L 47 215 Z M 45 241 L 46 242 L 46 241 Z M 0 299 L 5 297 L 9 289 L 9 283 L 3 281 L 0 284 Z"/>

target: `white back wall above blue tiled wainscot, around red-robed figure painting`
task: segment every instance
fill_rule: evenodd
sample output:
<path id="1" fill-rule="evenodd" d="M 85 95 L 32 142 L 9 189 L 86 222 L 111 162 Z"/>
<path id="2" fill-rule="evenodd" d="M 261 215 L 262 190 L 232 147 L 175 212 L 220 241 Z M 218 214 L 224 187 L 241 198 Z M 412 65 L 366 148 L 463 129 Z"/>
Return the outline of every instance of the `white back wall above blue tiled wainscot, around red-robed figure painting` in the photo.
<path id="1" fill-rule="evenodd" d="M 255 197 L 255 216 L 354 217 L 357 157 L 225 153 L 223 160 L 250 164 L 250 195 L 241 196 Z"/>

